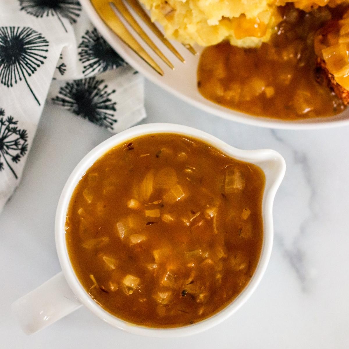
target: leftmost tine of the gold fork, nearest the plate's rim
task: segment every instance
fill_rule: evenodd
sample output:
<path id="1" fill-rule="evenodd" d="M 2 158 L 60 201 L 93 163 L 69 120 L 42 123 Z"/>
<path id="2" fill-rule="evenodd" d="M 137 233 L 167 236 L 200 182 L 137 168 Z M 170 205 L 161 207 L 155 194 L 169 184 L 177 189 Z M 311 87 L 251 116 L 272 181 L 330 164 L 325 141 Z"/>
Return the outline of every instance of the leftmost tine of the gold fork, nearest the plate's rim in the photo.
<path id="1" fill-rule="evenodd" d="M 143 49 L 137 40 L 126 29 L 120 18 L 105 0 L 91 0 L 98 15 L 103 22 L 136 54 L 149 64 L 157 73 L 164 75 L 163 70 L 156 64 L 153 58 Z"/>

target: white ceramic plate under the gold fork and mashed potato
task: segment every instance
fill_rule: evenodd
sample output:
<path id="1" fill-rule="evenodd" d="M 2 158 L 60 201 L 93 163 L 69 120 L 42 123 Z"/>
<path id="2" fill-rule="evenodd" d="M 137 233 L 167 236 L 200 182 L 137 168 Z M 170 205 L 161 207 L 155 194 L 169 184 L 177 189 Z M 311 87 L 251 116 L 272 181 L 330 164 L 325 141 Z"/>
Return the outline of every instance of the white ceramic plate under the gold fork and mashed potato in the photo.
<path id="1" fill-rule="evenodd" d="M 183 64 L 153 35 L 148 28 L 146 28 L 145 25 L 143 25 L 142 27 L 147 32 L 149 37 L 166 55 L 166 57 L 170 59 L 175 67 L 175 70 L 171 70 L 169 67 L 167 67 L 161 61 L 161 59 L 159 59 L 156 54 L 151 52 L 151 49 L 149 49 L 148 46 L 143 43 L 136 34 L 134 34 L 135 38 L 139 40 L 144 49 L 147 50 L 147 52 L 164 70 L 164 76 L 160 76 L 105 25 L 105 23 L 97 15 L 94 7 L 90 3 L 90 0 L 81 0 L 80 2 L 98 31 L 103 35 L 107 42 L 109 42 L 113 49 L 116 50 L 129 64 L 146 76 L 150 81 L 171 92 L 173 95 L 183 99 L 184 101 L 202 109 L 203 111 L 215 114 L 225 119 L 242 122 L 244 124 L 270 128 L 307 129 L 334 127 L 349 124 L 349 109 L 337 114 L 336 116 L 328 118 L 311 118 L 305 120 L 287 121 L 266 117 L 254 117 L 210 102 L 200 95 L 198 88 L 196 87 L 196 68 L 198 66 L 200 52 L 202 51 L 200 47 L 195 47 L 199 54 L 194 56 L 188 50 L 186 50 L 183 45 L 172 41 L 173 46 L 176 47 L 176 49 L 186 60 L 186 63 Z M 135 17 L 137 18 L 136 15 Z M 139 23 L 141 23 L 140 20 Z M 130 31 L 134 33 L 132 29 Z"/>

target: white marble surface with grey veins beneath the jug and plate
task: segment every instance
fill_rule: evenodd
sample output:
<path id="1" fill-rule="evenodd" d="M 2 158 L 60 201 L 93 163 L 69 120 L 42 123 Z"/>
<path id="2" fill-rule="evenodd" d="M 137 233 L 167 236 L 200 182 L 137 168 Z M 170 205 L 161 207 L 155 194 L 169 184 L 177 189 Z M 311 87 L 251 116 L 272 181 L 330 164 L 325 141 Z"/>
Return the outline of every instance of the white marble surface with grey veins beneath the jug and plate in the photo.
<path id="1" fill-rule="evenodd" d="M 199 335 L 142 338 L 83 307 L 30 337 L 11 303 L 59 272 L 53 222 L 74 166 L 110 133 L 46 106 L 23 180 L 0 216 L 0 347 L 349 348 L 349 127 L 273 131 L 205 114 L 146 83 L 147 122 L 212 133 L 243 149 L 273 148 L 287 163 L 274 206 L 275 242 L 257 291 L 230 319 Z"/>

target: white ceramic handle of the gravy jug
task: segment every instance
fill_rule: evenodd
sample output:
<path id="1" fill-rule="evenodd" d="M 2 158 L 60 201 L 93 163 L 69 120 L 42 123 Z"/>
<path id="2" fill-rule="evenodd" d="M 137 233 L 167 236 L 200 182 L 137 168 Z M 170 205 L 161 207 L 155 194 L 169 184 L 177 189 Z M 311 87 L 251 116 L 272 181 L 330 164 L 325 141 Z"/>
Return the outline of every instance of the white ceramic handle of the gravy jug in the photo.
<path id="1" fill-rule="evenodd" d="M 12 304 L 26 334 L 33 334 L 81 307 L 63 275 L 53 276 Z"/>

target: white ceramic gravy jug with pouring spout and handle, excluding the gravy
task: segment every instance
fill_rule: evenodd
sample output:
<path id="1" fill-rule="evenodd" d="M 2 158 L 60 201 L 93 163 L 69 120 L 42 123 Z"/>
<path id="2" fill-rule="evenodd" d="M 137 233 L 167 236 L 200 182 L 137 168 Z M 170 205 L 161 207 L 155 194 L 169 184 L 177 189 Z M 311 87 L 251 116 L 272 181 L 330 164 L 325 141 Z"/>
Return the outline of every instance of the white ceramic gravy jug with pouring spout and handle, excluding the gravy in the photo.
<path id="1" fill-rule="evenodd" d="M 200 139 L 213 145 L 231 157 L 258 165 L 264 171 L 266 176 L 266 186 L 262 201 L 264 228 L 263 246 L 260 260 L 251 281 L 236 299 L 217 314 L 193 325 L 179 328 L 158 329 L 138 326 L 121 320 L 105 311 L 89 296 L 77 279 L 69 260 L 65 239 L 65 221 L 70 198 L 83 174 L 98 158 L 111 148 L 118 144 L 125 143 L 135 137 L 154 133 L 176 133 Z M 96 148 L 92 149 L 81 160 L 64 186 L 58 202 L 55 218 L 57 253 L 64 276 L 62 273 L 54 276 L 38 289 L 30 292 L 30 294 L 22 297 L 14 303 L 14 309 L 20 319 L 23 329 L 27 333 L 34 333 L 75 310 L 80 306 L 80 304 L 86 306 L 92 313 L 103 319 L 108 324 L 127 332 L 144 336 L 184 336 L 204 331 L 205 329 L 219 324 L 246 302 L 248 297 L 250 297 L 252 292 L 256 289 L 266 270 L 273 245 L 273 201 L 276 190 L 284 176 L 284 172 L 284 159 L 274 150 L 236 149 L 210 134 L 187 126 L 174 124 L 146 124 L 129 128 L 126 131 L 107 139 Z"/>

